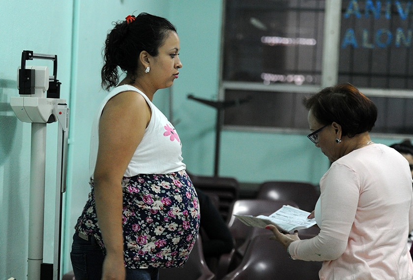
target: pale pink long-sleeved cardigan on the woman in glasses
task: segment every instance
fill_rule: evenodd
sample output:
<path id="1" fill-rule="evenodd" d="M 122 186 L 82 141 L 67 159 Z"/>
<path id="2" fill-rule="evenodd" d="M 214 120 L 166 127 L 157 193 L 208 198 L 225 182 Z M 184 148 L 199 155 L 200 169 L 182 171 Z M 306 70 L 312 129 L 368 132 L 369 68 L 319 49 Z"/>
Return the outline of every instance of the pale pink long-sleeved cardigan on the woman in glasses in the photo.
<path id="1" fill-rule="evenodd" d="M 392 148 L 370 144 L 335 161 L 320 188 L 320 234 L 293 242 L 292 257 L 324 261 L 321 280 L 412 280 L 407 161 Z"/>

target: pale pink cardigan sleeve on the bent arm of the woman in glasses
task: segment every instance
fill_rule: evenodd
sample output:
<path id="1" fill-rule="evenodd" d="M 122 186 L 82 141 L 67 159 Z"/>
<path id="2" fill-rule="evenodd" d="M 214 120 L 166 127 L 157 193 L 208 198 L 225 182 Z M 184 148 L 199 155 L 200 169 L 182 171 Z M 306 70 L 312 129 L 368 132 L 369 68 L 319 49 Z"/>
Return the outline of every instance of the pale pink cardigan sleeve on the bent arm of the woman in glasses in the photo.
<path id="1" fill-rule="evenodd" d="M 291 243 L 289 252 L 295 259 L 334 260 L 347 247 L 360 193 L 359 177 L 354 170 L 335 164 L 323 176 L 320 188 L 320 233 Z"/>

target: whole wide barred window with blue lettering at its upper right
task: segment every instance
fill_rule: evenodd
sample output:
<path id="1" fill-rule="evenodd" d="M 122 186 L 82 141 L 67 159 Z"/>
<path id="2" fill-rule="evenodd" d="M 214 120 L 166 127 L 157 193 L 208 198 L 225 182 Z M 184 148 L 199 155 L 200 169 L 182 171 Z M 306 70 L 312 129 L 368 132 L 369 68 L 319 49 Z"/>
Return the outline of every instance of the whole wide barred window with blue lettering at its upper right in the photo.
<path id="1" fill-rule="evenodd" d="M 248 100 L 225 109 L 226 128 L 308 130 L 302 99 L 331 85 L 322 84 L 328 1 L 225 1 L 220 97 Z M 413 135 L 412 1 L 331 2 L 341 3 L 337 83 L 375 102 L 373 132 Z"/>

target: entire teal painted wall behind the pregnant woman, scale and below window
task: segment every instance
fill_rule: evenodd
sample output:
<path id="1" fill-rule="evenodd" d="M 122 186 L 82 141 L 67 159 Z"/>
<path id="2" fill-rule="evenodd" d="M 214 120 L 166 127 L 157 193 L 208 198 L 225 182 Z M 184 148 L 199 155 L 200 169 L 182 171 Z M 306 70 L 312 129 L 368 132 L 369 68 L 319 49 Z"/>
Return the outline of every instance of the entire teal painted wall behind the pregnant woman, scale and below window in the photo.
<path id="1" fill-rule="evenodd" d="M 30 124 L 12 112 L 18 96 L 17 67 L 23 50 L 58 55 L 61 98 L 70 107 L 69 164 L 63 213 L 63 272 L 69 261 L 73 225 L 89 193 L 91 118 L 105 96 L 100 89 L 101 49 L 111 22 L 146 11 L 177 26 L 183 68 L 171 89 L 154 103 L 172 115 L 190 172 L 212 175 L 216 111 L 187 99 L 216 100 L 219 81 L 222 0 L 3 0 L 0 44 L 0 280 L 27 274 Z M 29 65 L 45 65 L 35 60 Z M 169 97 L 172 95 L 172 108 Z M 48 125 L 44 261 L 53 261 L 57 124 Z M 391 144 L 394 139 L 375 139 Z M 305 135 L 223 131 L 220 175 L 241 183 L 296 180 L 317 183 L 328 168 Z"/>

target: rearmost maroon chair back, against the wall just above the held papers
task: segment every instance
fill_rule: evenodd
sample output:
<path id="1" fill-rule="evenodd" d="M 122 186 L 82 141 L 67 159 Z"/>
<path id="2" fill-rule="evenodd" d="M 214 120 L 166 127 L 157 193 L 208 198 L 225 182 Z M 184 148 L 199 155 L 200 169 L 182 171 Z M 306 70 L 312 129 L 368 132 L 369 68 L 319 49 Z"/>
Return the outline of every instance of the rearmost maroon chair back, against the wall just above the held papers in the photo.
<path id="1" fill-rule="evenodd" d="M 257 199 L 292 200 L 301 210 L 314 210 L 320 193 L 316 186 L 304 182 L 268 181 L 260 185 Z"/>

